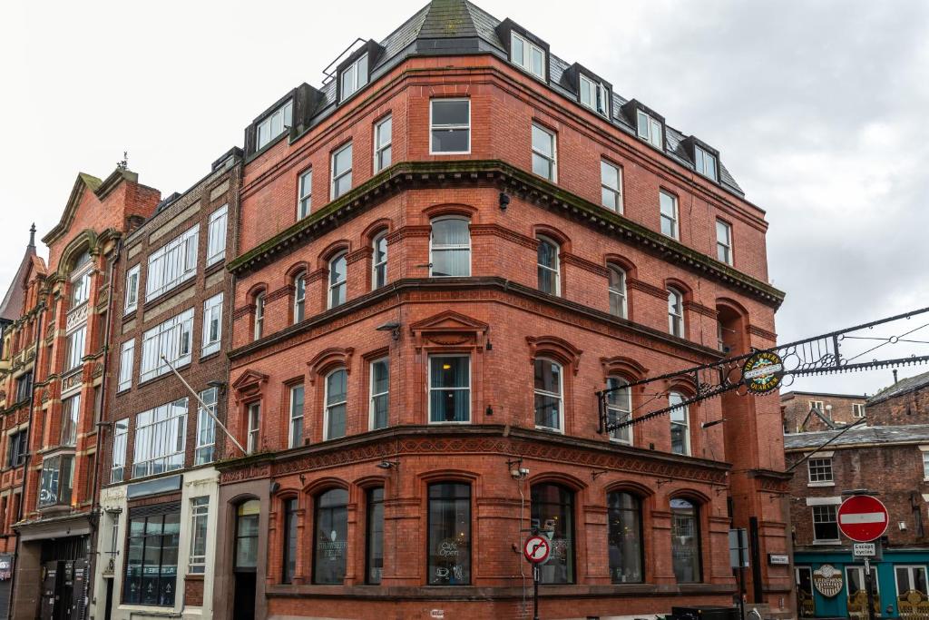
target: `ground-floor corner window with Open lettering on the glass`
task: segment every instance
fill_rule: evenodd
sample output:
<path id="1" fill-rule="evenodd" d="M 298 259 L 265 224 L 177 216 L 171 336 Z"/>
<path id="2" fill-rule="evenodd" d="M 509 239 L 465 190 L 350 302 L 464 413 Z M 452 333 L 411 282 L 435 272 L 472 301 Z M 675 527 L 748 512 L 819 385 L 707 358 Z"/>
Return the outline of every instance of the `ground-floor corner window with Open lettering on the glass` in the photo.
<path id="1" fill-rule="evenodd" d="M 471 583 L 471 486 L 429 485 L 428 566 L 430 586 Z"/>

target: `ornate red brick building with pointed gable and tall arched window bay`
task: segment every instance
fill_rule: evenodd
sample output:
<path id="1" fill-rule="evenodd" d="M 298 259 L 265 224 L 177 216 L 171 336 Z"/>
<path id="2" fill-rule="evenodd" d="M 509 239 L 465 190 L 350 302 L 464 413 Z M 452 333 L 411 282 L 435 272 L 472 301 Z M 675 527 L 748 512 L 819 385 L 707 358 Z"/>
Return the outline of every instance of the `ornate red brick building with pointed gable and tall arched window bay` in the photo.
<path id="1" fill-rule="evenodd" d="M 23 281 L 24 331 L 14 350 L 33 361 L 33 394 L 16 413 L 30 432 L 12 525 L 19 555 L 11 617 L 85 613 L 113 259 L 120 238 L 158 200 L 124 167 L 104 180 L 78 175 L 59 224 L 43 239 L 47 274 L 36 260 Z"/>

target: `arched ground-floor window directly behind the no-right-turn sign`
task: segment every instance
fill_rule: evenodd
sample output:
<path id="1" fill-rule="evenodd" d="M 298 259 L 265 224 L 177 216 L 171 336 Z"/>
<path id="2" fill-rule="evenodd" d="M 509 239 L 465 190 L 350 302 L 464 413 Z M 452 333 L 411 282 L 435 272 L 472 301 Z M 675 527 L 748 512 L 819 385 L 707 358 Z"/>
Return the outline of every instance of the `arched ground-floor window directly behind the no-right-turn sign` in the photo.
<path id="1" fill-rule="evenodd" d="M 574 583 L 574 492 L 551 483 L 532 487 L 532 527 L 551 533 L 549 561 L 542 565 L 543 584 Z"/>

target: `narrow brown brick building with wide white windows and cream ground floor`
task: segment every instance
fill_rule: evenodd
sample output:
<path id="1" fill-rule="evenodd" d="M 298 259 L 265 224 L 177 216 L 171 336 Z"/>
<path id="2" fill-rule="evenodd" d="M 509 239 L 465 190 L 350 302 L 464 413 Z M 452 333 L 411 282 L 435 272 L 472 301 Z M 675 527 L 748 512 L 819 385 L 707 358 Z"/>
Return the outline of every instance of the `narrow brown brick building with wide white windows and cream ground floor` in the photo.
<path id="1" fill-rule="evenodd" d="M 226 259 L 241 164 L 241 149 L 225 153 L 119 249 L 90 611 L 97 618 L 212 616 L 214 464 L 223 452 L 206 408 L 225 419 Z"/>

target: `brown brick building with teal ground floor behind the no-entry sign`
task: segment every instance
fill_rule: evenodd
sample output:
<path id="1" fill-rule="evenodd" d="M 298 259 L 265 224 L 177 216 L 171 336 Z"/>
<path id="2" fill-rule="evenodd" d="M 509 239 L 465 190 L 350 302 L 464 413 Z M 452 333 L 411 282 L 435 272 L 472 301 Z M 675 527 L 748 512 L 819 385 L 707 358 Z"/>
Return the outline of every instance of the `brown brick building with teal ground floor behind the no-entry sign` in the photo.
<path id="1" fill-rule="evenodd" d="M 842 435 L 840 430 L 825 430 L 785 436 L 789 466 L 808 457 L 791 482 L 799 615 L 867 617 L 863 565 L 852 557 L 852 541 L 840 534 L 836 521 L 843 492 L 853 489 L 876 493 L 890 514 L 883 559 L 871 564 L 878 590 L 876 611 L 900 618 L 929 613 L 927 392 L 929 373 L 902 379 L 866 402 L 866 426 Z M 832 396 L 833 402 L 842 401 L 840 395 Z M 834 596 L 815 585 L 824 566 L 842 577 L 843 586 Z"/>

